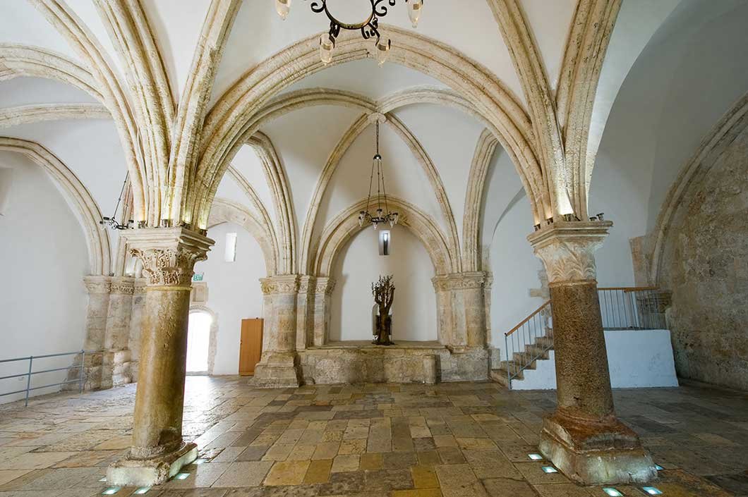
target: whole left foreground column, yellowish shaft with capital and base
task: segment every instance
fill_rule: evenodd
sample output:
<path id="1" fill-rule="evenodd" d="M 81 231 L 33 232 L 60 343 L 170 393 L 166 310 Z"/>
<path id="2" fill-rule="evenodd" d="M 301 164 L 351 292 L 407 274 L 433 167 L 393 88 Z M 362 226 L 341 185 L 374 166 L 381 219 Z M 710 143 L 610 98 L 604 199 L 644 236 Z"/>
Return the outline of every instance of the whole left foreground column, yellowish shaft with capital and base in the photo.
<path id="1" fill-rule="evenodd" d="M 135 229 L 123 234 L 147 279 L 132 447 L 109 466 L 107 482 L 150 487 L 197 457 L 182 439 L 187 320 L 194 264 L 213 241 L 183 228 Z"/>

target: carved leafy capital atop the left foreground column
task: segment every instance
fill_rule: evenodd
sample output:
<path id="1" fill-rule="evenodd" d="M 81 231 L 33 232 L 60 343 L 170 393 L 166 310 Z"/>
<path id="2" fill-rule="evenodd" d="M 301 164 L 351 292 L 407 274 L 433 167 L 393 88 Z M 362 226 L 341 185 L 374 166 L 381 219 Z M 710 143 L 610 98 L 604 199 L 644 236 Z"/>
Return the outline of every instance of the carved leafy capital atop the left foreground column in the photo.
<path id="1" fill-rule="evenodd" d="M 207 259 L 213 241 L 185 228 L 141 228 L 122 234 L 129 253 L 143 262 L 148 286 L 190 288 L 194 264 Z"/>

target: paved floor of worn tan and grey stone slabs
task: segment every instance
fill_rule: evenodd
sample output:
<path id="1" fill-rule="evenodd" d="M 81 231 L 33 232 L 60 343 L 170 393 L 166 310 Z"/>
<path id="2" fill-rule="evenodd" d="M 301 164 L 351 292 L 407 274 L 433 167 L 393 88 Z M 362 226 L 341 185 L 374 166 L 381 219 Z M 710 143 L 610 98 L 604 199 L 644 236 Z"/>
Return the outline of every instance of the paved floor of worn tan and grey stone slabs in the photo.
<path id="1" fill-rule="evenodd" d="M 615 395 L 664 468 L 652 482 L 663 496 L 748 496 L 747 394 L 683 386 Z M 494 383 L 257 390 L 239 377 L 188 377 L 184 431 L 201 464 L 147 495 L 604 497 L 527 456 L 554 396 Z M 0 407 L 0 497 L 101 495 L 106 466 L 129 443 L 134 397 L 130 385 Z"/>

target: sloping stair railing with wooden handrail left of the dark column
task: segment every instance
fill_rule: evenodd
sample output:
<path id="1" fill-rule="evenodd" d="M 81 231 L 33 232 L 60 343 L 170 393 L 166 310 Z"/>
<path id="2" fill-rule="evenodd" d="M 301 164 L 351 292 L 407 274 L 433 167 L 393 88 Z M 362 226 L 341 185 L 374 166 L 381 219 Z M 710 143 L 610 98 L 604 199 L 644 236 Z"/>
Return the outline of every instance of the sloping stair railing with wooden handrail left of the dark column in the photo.
<path id="1" fill-rule="evenodd" d="M 543 303 L 532 314 L 504 333 L 504 350 L 506 351 L 506 380 L 512 388 L 512 379 L 518 377 L 539 357 L 545 355 L 554 347 L 551 330 L 551 300 Z M 512 345 L 512 355 L 509 359 L 509 345 Z"/>

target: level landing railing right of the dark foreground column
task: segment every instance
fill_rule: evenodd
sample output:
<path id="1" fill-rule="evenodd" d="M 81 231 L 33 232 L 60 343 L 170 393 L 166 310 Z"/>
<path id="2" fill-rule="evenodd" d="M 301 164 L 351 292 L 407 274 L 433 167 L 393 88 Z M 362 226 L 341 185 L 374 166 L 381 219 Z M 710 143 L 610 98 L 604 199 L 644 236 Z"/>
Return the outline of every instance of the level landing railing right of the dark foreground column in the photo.
<path id="1" fill-rule="evenodd" d="M 598 288 L 604 330 L 661 330 L 669 304 L 654 287 Z"/>

